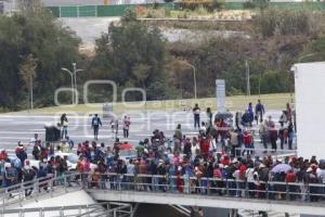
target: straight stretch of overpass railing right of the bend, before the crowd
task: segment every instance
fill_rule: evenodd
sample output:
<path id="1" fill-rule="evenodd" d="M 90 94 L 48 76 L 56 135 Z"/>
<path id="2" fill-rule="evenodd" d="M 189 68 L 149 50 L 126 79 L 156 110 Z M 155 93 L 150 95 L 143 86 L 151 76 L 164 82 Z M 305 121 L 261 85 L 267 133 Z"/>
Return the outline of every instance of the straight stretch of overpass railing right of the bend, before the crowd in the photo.
<path id="1" fill-rule="evenodd" d="M 98 175 L 96 175 L 98 176 Z M 247 181 L 186 176 L 102 174 L 100 179 L 83 175 L 88 190 L 147 191 L 155 193 L 204 194 L 277 201 L 316 202 L 325 199 L 324 183 Z"/>

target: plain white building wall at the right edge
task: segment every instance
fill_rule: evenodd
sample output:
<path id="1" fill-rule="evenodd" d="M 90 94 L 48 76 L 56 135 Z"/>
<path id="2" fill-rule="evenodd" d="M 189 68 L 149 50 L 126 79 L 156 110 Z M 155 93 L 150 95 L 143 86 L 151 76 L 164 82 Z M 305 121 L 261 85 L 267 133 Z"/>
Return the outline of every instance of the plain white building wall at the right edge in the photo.
<path id="1" fill-rule="evenodd" d="M 292 66 L 298 156 L 325 158 L 325 62 Z"/>

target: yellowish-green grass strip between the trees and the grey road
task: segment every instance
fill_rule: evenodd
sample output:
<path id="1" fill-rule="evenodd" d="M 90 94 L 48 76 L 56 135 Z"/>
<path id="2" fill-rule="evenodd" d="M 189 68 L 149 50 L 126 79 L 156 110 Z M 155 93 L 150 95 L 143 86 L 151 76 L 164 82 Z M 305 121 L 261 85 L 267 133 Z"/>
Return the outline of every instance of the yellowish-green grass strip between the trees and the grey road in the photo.
<path id="1" fill-rule="evenodd" d="M 259 95 L 236 95 L 226 97 L 225 104 L 226 108 L 230 111 L 244 111 L 248 102 L 256 104 Z M 276 94 L 261 94 L 260 99 L 265 105 L 266 110 L 283 110 L 287 102 L 291 102 L 290 93 L 276 93 Z M 183 107 L 193 107 L 195 103 L 198 103 L 202 110 L 206 107 L 211 107 L 212 111 L 217 110 L 217 99 L 216 98 L 203 98 L 203 99 L 186 99 L 186 100 L 166 100 L 166 101 L 148 101 L 142 105 L 138 102 L 132 102 L 127 106 L 122 103 L 115 103 L 113 105 L 113 111 L 116 114 L 120 114 L 128 111 L 181 111 Z M 79 115 L 102 114 L 102 103 L 98 104 L 80 104 L 76 106 L 65 105 L 65 106 L 53 106 L 37 108 L 29 114 L 62 114 L 62 113 L 77 113 Z M 26 114 L 27 111 L 22 111 L 18 113 Z"/>

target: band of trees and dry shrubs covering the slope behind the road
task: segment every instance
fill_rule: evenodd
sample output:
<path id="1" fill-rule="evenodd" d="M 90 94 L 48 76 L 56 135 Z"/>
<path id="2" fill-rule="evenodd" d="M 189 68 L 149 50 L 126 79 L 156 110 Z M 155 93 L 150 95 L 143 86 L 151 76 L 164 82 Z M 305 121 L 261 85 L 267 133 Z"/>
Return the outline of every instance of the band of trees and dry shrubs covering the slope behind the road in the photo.
<path id="1" fill-rule="evenodd" d="M 69 28 L 41 5 L 28 4 L 21 13 L 0 18 L 0 111 L 26 110 L 31 82 L 35 107 L 53 105 L 55 90 L 70 87 L 70 77 L 61 68 L 70 68 L 73 62 L 83 69 L 77 80 L 79 103 L 82 84 L 90 79 L 116 81 L 118 100 L 130 87 L 144 89 L 148 101 L 193 98 L 192 66 L 199 98 L 214 95 L 217 78 L 226 80 L 227 95 L 246 94 L 248 67 L 251 94 L 292 92 L 290 66 L 298 61 L 325 59 L 324 14 L 309 8 L 280 10 L 266 1 L 250 3 L 248 11 L 233 13 L 223 10 L 222 1 L 209 5 L 184 2 L 184 9 L 177 13 L 159 7 L 129 10 L 96 40 L 93 55 L 80 54 L 81 41 Z M 210 15 L 226 20 L 238 15 L 233 22 L 139 20 L 159 11 L 164 11 L 161 17 L 188 13 L 185 18 Z M 197 39 L 167 41 L 164 31 L 171 28 L 198 30 Z M 211 36 L 202 37 L 208 30 Z M 229 30 L 240 34 L 216 34 Z M 110 93 L 112 88 L 104 85 L 91 86 L 89 101 L 110 101 Z M 70 92 L 58 97 L 62 103 L 70 103 Z M 136 92 L 127 94 L 128 101 L 141 99 Z"/>

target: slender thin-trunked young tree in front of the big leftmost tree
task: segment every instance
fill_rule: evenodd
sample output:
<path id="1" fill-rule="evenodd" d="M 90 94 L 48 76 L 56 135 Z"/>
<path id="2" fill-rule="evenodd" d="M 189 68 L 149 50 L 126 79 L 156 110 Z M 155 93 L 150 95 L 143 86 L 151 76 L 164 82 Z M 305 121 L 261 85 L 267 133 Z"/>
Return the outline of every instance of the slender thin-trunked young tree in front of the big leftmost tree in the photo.
<path id="1" fill-rule="evenodd" d="M 20 75 L 25 82 L 30 100 L 30 110 L 32 110 L 32 81 L 36 76 L 37 59 L 32 54 L 28 54 L 24 58 L 24 61 L 20 65 Z"/>

